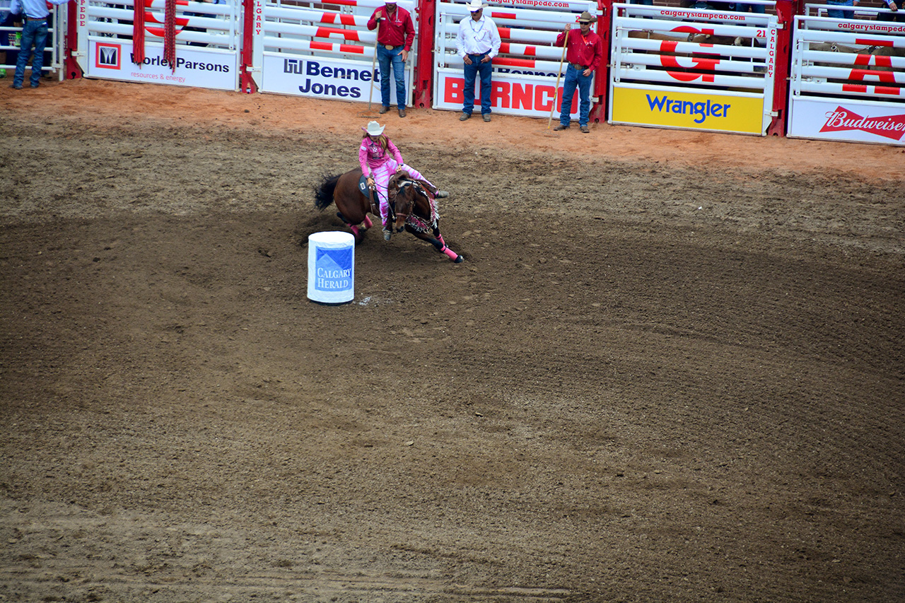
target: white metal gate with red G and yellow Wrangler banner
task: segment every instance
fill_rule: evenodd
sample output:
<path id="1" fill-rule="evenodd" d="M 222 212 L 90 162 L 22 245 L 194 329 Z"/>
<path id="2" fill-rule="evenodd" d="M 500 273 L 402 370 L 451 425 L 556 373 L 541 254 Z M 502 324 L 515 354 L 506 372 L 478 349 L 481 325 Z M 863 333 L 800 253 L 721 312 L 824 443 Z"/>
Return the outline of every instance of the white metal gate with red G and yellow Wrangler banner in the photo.
<path id="1" fill-rule="evenodd" d="M 609 123 L 767 134 L 778 118 L 776 14 L 613 9 Z"/>

